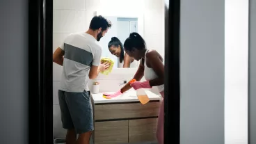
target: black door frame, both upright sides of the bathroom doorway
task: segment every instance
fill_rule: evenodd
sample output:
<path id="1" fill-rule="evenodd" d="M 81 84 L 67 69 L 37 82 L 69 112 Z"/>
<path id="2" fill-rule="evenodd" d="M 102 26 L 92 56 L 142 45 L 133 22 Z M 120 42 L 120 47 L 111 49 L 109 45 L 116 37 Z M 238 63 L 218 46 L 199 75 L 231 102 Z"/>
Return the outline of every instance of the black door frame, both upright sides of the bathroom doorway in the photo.
<path id="1" fill-rule="evenodd" d="M 179 144 L 180 0 L 165 0 L 165 143 Z M 29 1 L 29 143 L 53 143 L 53 1 Z"/>

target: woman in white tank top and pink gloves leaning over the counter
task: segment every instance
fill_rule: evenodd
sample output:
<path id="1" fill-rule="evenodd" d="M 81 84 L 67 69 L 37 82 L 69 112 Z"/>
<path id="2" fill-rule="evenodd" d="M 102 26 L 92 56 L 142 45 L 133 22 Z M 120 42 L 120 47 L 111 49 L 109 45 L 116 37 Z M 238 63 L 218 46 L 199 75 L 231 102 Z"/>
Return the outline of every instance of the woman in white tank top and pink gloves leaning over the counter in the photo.
<path id="1" fill-rule="evenodd" d="M 134 79 L 136 79 L 137 82 L 131 85 L 127 83 L 127 85 L 112 95 L 106 93 L 104 93 L 104 95 L 112 98 L 122 95 L 122 93 L 129 90 L 131 87 L 137 90 L 138 88 L 152 88 L 152 86 L 157 86 L 159 93 L 164 97 L 164 65 L 161 55 L 155 50 L 146 49 L 145 41 L 138 33 L 131 33 L 129 38 L 125 40 L 124 46 L 126 54 L 136 61 L 141 60 L 141 64 L 134 75 Z M 146 81 L 139 82 L 143 76 Z M 159 144 L 163 144 L 163 103 L 162 101 L 157 124 L 157 140 Z"/>

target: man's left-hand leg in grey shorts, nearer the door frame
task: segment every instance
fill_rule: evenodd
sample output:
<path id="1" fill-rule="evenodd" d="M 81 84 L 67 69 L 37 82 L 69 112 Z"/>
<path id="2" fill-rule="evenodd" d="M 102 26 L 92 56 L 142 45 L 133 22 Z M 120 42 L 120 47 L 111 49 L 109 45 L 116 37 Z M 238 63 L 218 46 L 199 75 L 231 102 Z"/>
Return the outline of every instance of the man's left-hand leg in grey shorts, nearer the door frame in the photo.
<path id="1" fill-rule="evenodd" d="M 65 101 L 65 92 L 62 90 L 58 90 L 58 102 L 61 108 L 61 121 L 63 124 L 63 128 L 67 129 L 66 144 L 77 144 L 77 134 L 74 130 L 70 111 Z"/>

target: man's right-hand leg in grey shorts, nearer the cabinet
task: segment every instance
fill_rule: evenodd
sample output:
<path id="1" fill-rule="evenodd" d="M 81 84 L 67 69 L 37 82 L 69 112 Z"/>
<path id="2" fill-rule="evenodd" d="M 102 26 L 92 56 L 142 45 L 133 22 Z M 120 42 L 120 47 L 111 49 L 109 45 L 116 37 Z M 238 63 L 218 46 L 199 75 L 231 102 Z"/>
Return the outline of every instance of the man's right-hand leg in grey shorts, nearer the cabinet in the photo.
<path id="1" fill-rule="evenodd" d="M 89 144 L 93 127 L 93 107 L 88 92 L 72 93 L 66 97 L 67 106 L 74 123 L 75 130 L 79 134 L 77 144 Z"/>

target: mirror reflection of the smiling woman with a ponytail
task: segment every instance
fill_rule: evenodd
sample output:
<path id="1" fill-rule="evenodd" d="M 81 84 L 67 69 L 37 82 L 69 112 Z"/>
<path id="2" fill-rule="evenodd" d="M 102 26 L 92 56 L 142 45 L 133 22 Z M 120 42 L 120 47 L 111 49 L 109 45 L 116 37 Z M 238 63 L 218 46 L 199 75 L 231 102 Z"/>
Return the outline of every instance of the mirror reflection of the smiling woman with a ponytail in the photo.
<path id="1" fill-rule="evenodd" d="M 115 55 L 119 59 L 118 67 L 128 68 L 128 67 L 138 67 L 137 61 L 131 58 L 128 54 L 125 54 L 122 42 L 116 37 L 111 38 L 109 42 L 109 51 L 111 54 Z"/>

